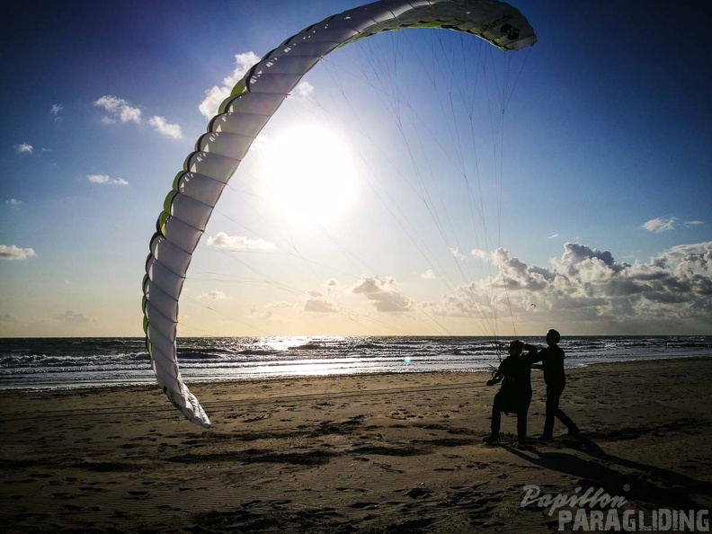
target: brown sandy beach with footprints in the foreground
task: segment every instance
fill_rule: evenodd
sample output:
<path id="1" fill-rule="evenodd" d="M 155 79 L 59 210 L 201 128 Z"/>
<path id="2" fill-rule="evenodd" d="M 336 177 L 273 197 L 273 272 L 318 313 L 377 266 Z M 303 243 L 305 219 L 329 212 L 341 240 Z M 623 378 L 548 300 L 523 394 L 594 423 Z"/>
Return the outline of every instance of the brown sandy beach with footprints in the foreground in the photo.
<path id="1" fill-rule="evenodd" d="M 712 359 L 570 370 L 561 406 L 583 433 L 557 423 L 547 442 L 536 440 L 545 387 L 535 372 L 526 449 L 515 447 L 510 417 L 499 444 L 483 442 L 496 392 L 487 378 L 194 384 L 209 430 L 158 387 L 3 392 L 0 530 L 556 530 L 559 511 L 524 502 L 526 485 L 539 497 L 592 488 L 625 498 L 621 511 L 710 508 Z"/>

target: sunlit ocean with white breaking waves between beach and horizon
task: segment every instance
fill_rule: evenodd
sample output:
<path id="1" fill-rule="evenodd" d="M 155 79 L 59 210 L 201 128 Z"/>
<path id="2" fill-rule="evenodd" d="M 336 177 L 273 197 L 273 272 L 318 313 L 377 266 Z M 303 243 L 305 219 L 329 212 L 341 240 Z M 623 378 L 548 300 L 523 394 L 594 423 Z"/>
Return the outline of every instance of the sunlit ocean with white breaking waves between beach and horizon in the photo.
<path id="1" fill-rule="evenodd" d="M 541 345 L 540 337 L 522 337 Z M 186 382 L 356 373 L 482 371 L 506 356 L 485 337 L 181 338 Z M 560 346 L 568 367 L 712 356 L 712 336 L 583 336 Z M 0 389 L 155 383 L 144 338 L 0 339 Z"/>

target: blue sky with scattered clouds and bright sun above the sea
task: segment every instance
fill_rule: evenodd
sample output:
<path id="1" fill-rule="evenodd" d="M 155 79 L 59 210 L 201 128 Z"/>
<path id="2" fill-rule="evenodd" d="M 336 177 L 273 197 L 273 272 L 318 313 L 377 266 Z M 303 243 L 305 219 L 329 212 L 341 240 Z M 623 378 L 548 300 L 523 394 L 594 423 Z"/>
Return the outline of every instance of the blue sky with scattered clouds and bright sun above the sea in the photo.
<path id="1" fill-rule="evenodd" d="M 359 1 L 17 4 L 0 336 L 143 335 L 174 176 L 247 67 Z M 712 6 L 516 0 L 304 77 L 193 254 L 179 335 L 712 334 Z"/>

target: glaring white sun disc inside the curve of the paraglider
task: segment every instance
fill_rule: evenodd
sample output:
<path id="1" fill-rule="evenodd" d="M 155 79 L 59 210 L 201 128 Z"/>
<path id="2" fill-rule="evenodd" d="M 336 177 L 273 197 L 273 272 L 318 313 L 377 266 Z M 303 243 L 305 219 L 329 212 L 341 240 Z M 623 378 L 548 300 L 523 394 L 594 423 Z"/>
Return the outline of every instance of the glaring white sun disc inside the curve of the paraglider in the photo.
<path id="1" fill-rule="evenodd" d="M 332 221 L 351 204 L 356 172 L 338 132 L 302 125 L 263 141 L 263 182 L 290 221 Z"/>

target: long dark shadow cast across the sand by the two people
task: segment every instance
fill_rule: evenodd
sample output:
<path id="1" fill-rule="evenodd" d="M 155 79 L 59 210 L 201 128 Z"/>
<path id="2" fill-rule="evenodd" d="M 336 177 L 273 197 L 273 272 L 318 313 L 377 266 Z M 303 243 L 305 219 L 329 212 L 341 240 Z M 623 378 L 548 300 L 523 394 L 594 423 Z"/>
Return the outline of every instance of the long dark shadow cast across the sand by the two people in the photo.
<path id="1" fill-rule="evenodd" d="M 670 469 L 642 464 L 607 453 L 592 440 L 578 436 L 578 450 L 590 458 L 581 458 L 563 451 L 542 451 L 504 448 L 530 463 L 577 476 L 579 485 L 601 487 L 611 497 L 625 497 L 652 508 L 674 510 L 708 510 L 707 498 L 712 496 L 712 484 L 681 475 Z M 621 473 L 616 467 L 626 467 L 632 472 Z"/>

